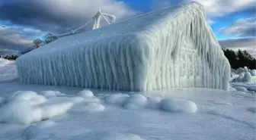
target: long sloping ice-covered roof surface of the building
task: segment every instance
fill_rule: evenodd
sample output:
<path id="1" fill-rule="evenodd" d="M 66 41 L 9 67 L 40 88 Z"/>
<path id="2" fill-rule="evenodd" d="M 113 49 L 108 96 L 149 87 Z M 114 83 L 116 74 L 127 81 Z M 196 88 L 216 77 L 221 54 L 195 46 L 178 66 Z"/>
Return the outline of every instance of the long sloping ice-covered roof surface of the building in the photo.
<path id="1" fill-rule="evenodd" d="M 86 47 L 83 44 L 97 42 L 98 40 L 111 37 L 121 37 L 127 34 L 139 33 L 145 30 L 159 30 L 155 29 L 152 25 L 162 24 L 162 26 L 165 27 L 166 23 L 171 22 L 172 20 L 181 20 L 182 18 L 190 20 L 191 18 L 194 18 L 194 14 L 203 14 L 201 17 L 204 17 L 204 13 L 203 6 L 197 2 L 190 2 L 189 4 L 177 7 L 163 8 L 159 11 L 152 11 L 118 23 L 110 24 L 109 26 L 104 26 L 98 30 L 90 30 L 85 33 L 62 37 L 55 42 L 43 45 L 29 53 L 31 55 L 39 55 L 42 53 L 49 54 L 53 51 L 59 51 L 58 48 L 66 49 L 78 47 L 80 45 Z"/>

